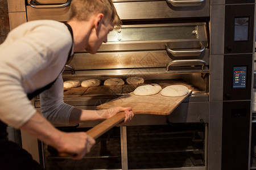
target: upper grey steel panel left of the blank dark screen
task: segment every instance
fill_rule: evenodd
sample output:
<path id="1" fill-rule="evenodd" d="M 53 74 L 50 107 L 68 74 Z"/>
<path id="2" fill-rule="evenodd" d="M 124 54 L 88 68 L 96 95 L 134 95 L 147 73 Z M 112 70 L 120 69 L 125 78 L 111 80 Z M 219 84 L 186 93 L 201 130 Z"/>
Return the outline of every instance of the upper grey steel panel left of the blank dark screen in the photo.
<path id="1" fill-rule="evenodd" d="M 224 54 L 225 5 L 211 6 L 210 54 Z"/>

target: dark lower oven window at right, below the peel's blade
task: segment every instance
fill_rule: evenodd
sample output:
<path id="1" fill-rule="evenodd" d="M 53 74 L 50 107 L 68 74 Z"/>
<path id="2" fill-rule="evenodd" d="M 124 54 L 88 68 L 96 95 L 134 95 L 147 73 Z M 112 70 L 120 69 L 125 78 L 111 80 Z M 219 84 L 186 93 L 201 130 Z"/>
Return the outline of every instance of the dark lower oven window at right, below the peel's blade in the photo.
<path id="1" fill-rule="evenodd" d="M 128 169 L 204 167 L 204 126 L 127 126 Z"/>

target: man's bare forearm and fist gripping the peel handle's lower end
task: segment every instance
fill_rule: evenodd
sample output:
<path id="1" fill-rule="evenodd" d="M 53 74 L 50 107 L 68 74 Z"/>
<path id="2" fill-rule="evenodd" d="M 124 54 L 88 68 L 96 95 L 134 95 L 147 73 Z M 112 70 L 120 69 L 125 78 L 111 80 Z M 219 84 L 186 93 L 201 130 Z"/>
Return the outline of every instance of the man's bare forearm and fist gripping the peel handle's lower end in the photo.
<path id="1" fill-rule="evenodd" d="M 59 152 L 73 155 L 73 159 L 81 159 L 95 143 L 85 132 L 65 133 L 57 130 L 37 112 L 20 129 L 55 147 Z"/>

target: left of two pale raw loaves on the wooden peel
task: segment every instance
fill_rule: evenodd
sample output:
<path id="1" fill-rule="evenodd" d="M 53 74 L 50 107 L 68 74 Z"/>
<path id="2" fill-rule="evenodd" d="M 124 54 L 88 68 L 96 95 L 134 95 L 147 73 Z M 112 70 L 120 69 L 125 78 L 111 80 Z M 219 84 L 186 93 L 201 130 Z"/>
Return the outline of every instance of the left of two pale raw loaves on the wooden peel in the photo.
<path id="1" fill-rule="evenodd" d="M 145 84 L 137 87 L 133 93 L 137 96 L 148 96 L 158 94 L 161 90 L 162 87 L 158 84 Z"/>

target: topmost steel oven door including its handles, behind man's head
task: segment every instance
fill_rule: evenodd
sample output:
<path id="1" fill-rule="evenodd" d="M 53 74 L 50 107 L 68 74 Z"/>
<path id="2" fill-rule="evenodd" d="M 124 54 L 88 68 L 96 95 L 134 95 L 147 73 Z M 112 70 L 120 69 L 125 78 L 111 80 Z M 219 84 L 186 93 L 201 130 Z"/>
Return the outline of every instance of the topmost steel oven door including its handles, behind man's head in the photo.
<path id="1" fill-rule="evenodd" d="M 71 0 L 27 1 L 27 20 L 53 19 L 66 22 L 70 2 Z M 114 0 L 113 2 L 122 20 L 197 18 L 207 17 L 210 12 L 210 0 Z"/>

